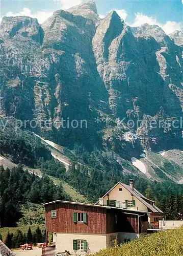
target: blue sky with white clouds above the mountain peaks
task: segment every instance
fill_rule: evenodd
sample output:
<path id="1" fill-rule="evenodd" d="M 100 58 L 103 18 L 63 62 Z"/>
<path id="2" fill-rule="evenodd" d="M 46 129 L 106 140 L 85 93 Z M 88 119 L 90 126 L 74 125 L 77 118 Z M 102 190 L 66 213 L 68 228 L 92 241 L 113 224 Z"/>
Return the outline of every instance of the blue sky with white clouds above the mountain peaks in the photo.
<path id="1" fill-rule="evenodd" d="M 1 17 L 28 15 L 38 18 L 42 23 L 53 11 L 67 9 L 83 0 L 1 0 Z M 143 23 L 156 24 L 168 34 L 182 29 L 183 0 L 96 0 L 100 17 L 111 10 L 118 14 L 130 26 L 140 26 Z"/>

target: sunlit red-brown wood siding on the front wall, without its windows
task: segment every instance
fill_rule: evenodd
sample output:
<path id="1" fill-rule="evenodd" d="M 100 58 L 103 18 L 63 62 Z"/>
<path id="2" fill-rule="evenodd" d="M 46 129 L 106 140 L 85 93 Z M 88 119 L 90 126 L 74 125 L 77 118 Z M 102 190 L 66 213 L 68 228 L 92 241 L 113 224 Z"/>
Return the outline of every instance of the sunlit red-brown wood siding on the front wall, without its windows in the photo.
<path id="1" fill-rule="evenodd" d="M 57 210 L 57 218 L 51 219 L 51 210 Z M 46 230 L 66 233 L 106 233 L 106 208 L 68 203 L 45 205 Z M 86 212 L 87 223 L 74 223 L 73 212 Z"/>

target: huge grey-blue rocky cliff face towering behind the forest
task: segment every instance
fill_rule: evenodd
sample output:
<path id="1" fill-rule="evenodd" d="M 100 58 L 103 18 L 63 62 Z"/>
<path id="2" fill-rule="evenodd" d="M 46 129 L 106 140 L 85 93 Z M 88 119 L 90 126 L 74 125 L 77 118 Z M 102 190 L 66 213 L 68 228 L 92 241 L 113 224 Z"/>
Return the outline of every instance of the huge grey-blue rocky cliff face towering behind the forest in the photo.
<path id="1" fill-rule="evenodd" d="M 93 1 L 56 11 L 41 26 L 30 17 L 4 17 L 1 115 L 47 120 L 49 127 L 35 129 L 42 136 L 69 147 L 106 147 L 127 159 L 142 150 L 181 149 L 179 36 L 148 24 L 130 28 L 114 11 L 100 20 Z M 87 120 L 87 128 L 65 128 L 63 119 Z"/>

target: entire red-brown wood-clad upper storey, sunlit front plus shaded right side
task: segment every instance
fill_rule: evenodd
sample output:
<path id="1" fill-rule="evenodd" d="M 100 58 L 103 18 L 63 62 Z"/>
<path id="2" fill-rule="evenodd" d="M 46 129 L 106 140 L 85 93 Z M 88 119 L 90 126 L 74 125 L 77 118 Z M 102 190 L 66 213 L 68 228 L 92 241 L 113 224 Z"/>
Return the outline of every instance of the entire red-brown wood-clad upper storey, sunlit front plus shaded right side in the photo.
<path id="1" fill-rule="evenodd" d="M 57 210 L 56 219 L 51 219 L 51 210 Z M 46 205 L 45 212 L 46 230 L 48 232 L 96 234 L 115 232 L 138 233 L 138 231 L 146 232 L 148 226 L 147 215 L 140 217 L 140 230 L 138 230 L 138 216 L 125 214 L 119 209 L 54 203 Z M 73 212 L 86 212 L 87 223 L 74 223 Z"/>

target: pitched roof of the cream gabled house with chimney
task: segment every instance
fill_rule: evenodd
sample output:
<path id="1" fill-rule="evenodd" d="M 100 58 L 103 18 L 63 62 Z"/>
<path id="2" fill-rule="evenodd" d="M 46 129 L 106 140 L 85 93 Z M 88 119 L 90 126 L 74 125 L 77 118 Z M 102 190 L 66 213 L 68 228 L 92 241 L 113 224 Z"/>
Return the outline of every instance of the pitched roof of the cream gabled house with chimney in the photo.
<path id="1" fill-rule="evenodd" d="M 161 214 L 163 214 L 163 211 L 160 210 L 157 206 L 152 206 L 151 204 L 147 203 L 145 200 L 148 200 L 148 201 L 151 201 L 154 203 L 154 201 L 152 200 L 149 200 L 148 198 L 146 198 L 144 195 L 142 195 L 136 188 L 134 188 L 134 190 L 132 190 L 130 188 L 129 185 L 126 185 L 124 183 L 121 183 L 120 181 L 114 185 L 114 187 L 112 187 L 103 197 L 101 198 L 104 198 L 106 197 L 110 192 L 111 190 L 113 190 L 118 184 L 121 184 L 123 187 L 125 187 L 129 193 L 131 193 L 133 196 L 135 196 L 139 201 L 141 201 L 141 203 L 143 203 L 147 208 L 149 208 L 152 212 L 160 212 Z M 145 200 L 144 200 L 145 199 Z M 98 203 L 99 201 L 96 202 L 96 204 Z"/>

